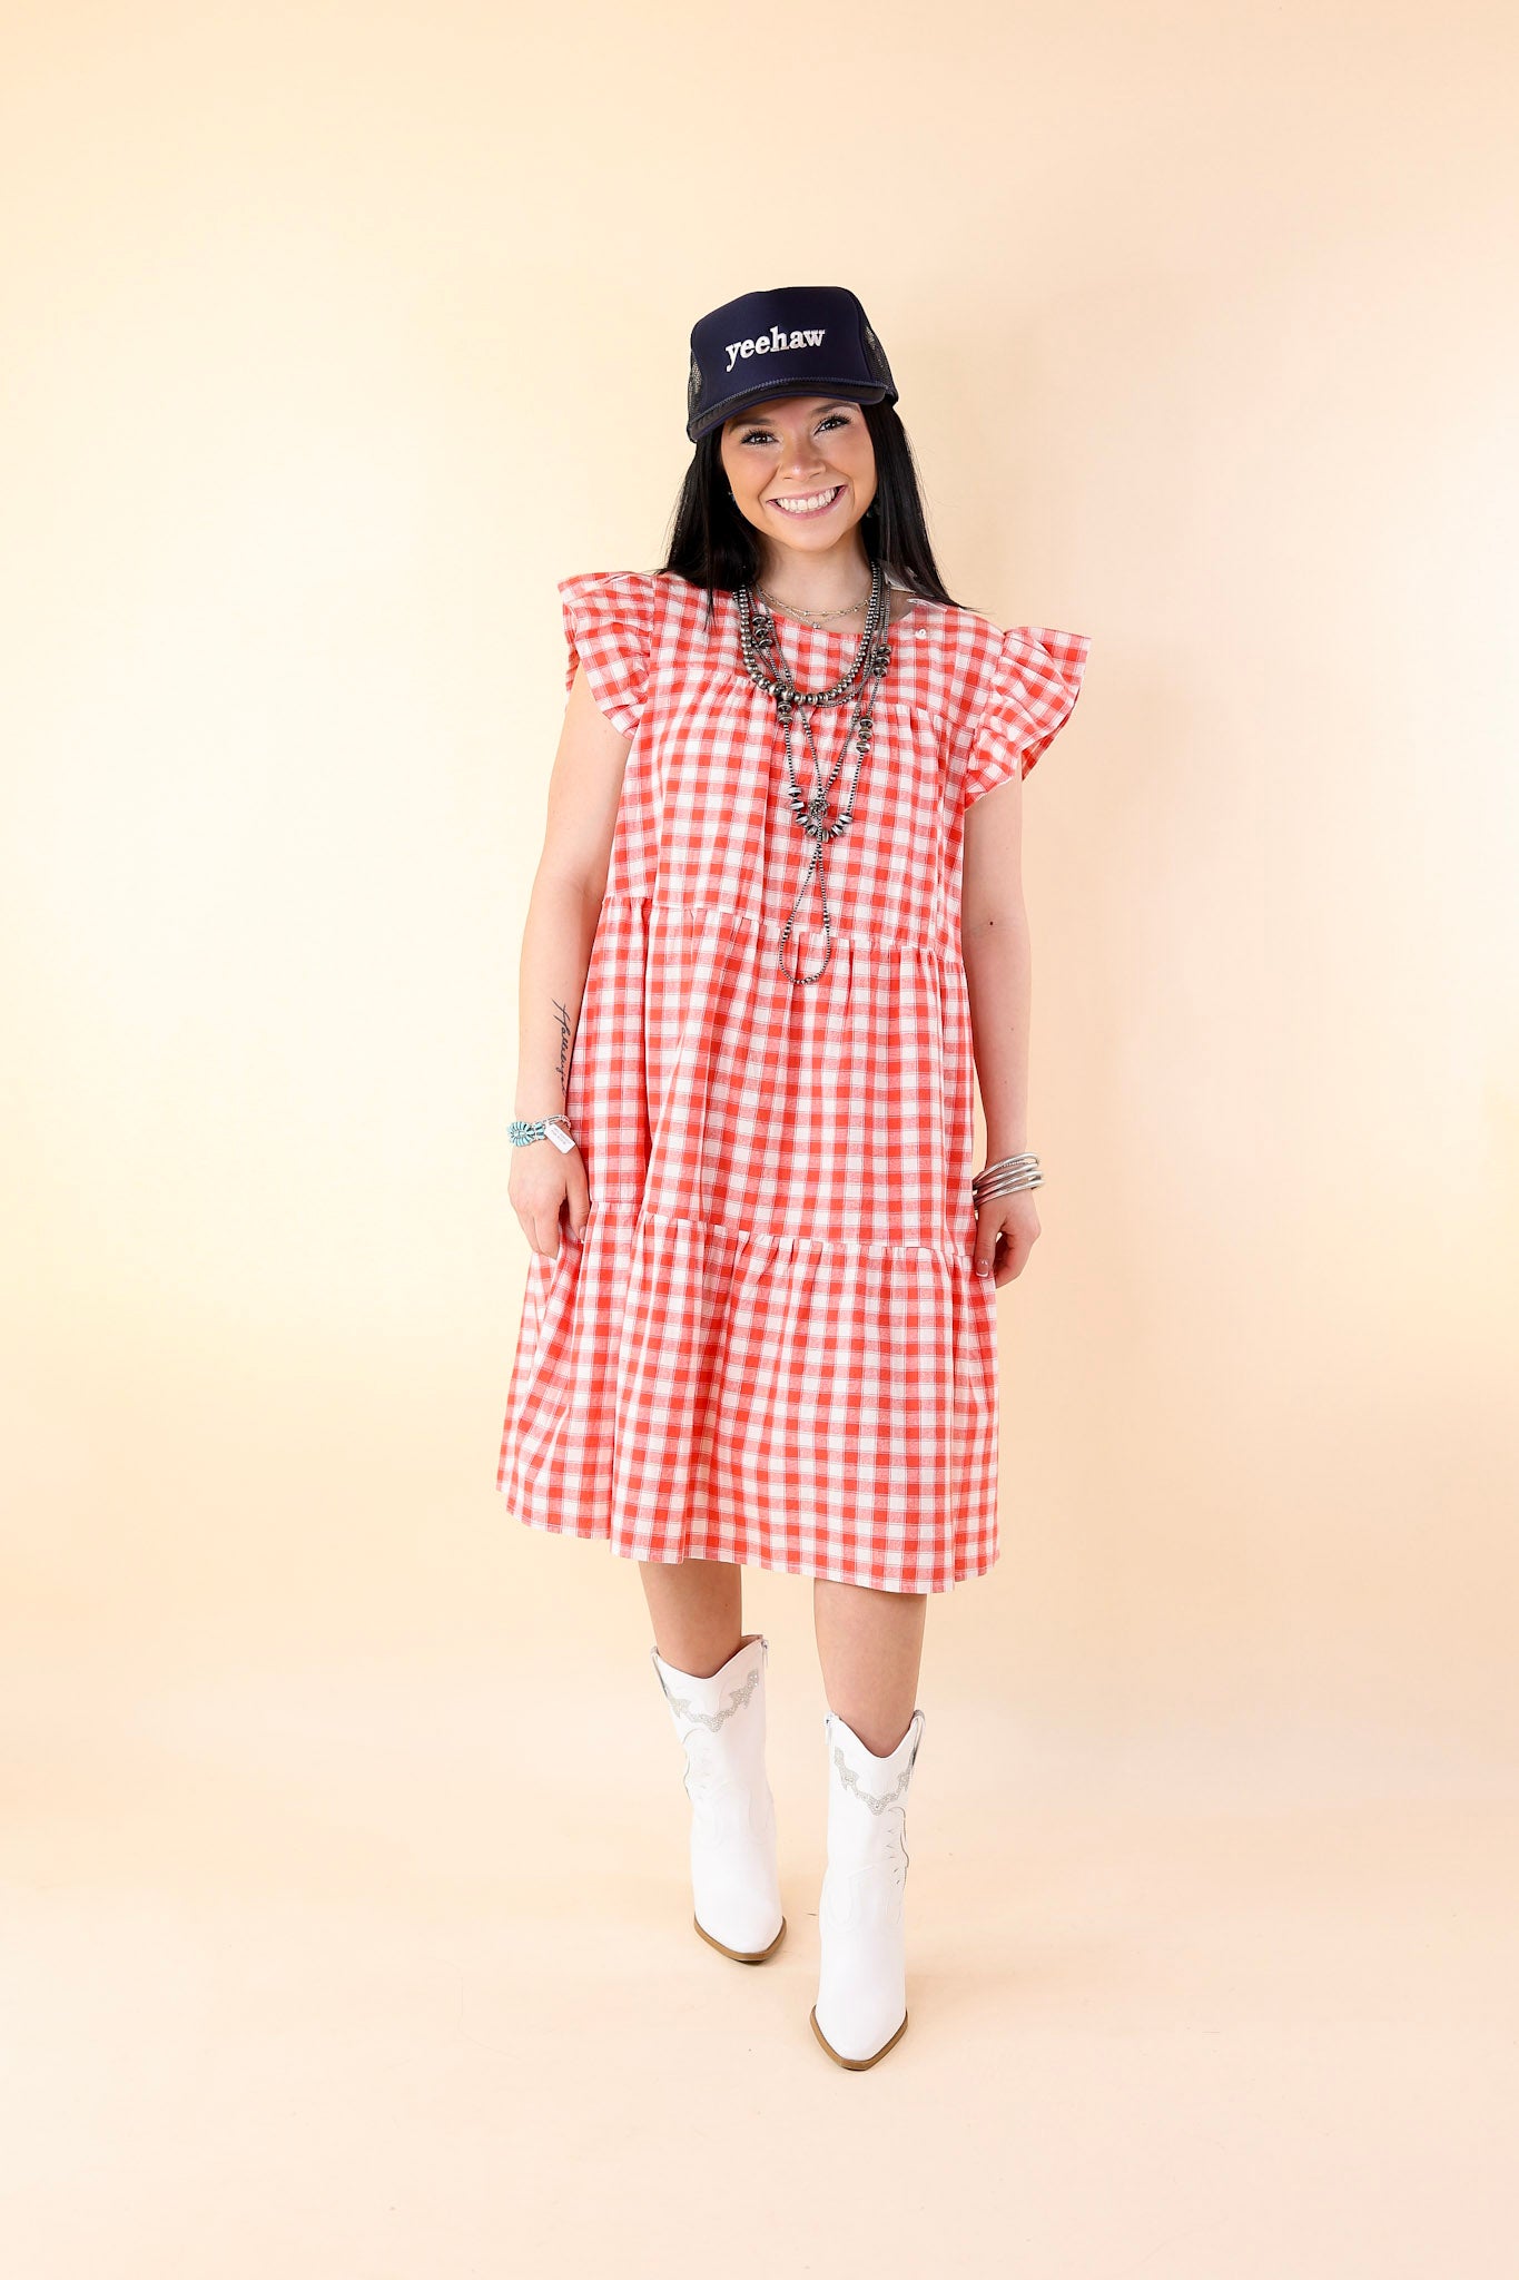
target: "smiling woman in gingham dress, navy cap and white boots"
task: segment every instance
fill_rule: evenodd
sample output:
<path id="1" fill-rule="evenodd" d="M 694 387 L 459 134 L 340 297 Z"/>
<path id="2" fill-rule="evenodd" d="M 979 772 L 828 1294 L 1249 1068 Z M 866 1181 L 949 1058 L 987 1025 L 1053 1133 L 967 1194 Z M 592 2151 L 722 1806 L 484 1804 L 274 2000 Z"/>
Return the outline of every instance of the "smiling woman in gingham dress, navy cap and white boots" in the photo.
<path id="1" fill-rule="evenodd" d="M 925 1610 L 997 1560 L 997 1286 L 1038 1233 L 1020 796 L 970 816 L 1020 784 L 1086 663 L 1079 634 L 950 597 L 895 392 L 843 287 L 713 310 L 670 559 L 560 581 L 512 1202 L 531 1236 L 569 1208 L 583 1240 L 528 1261 L 496 1475 L 528 1528 L 640 1564 L 695 1927 L 740 1961 L 786 1931 L 742 1569 L 811 1578 L 813 2031 L 847 2068 L 906 2027 Z"/>

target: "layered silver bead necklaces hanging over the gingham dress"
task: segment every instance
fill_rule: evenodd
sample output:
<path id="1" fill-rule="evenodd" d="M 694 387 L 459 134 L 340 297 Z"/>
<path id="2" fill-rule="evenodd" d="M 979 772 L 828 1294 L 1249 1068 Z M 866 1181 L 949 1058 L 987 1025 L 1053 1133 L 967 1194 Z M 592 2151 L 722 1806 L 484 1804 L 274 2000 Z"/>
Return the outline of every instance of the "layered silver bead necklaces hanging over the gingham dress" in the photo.
<path id="1" fill-rule="evenodd" d="M 802 885 L 797 887 L 797 901 L 790 905 L 790 917 L 781 928 L 779 955 L 781 974 L 788 983 L 815 983 L 824 971 L 829 958 L 834 955 L 834 921 L 829 917 L 829 891 L 822 871 L 822 850 L 829 839 L 838 839 L 854 823 L 854 791 L 861 780 L 861 768 L 865 766 L 865 752 L 870 750 L 870 739 L 875 736 L 875 698 L 877 686 L 886 677 L 890 666 L 890 641 L 886 638 L 886 627 L 890 622 L 890 588 L 886 584 L 886 568 L 879 561 L 870 563 L 870 602 L 865 604 L 865 629 L 854 650 L 849 670 L 843 673 L 831 689 L 797 689 L 790 666 L 786 663 L 786 652 L 781 650 L 781 636 L 770 609 L 756 600 L 752 586 L 738 588 L 738 648 L 742 652 L 745 673 L 756 689 L 767 689 L 774 698 L 777 720 L 781 723 L 781 734 L 786 736 L 786 775 L 788 775 L 788 798 L 790 812 L 802 828 L 804 839 L 813 841 L 813 853 L 808 857 L 806 871 L 802 873 Z M 854 705 L 854 718 L 845 730 L 845 741 L 834 762 L 834 771 L 822 782 L 822 764 L 818 759 L 818 743 L 813 739 L 813 711 L 820 705 Z M 790 750 L 793 720 L 802 716 L 802 734 L 808 752 L 813 755 L 815 789 L 804 793 L 797 784 L 797 768 Z M 845 752 L 849 743 L 856 748 L 854 777 L 845 796 L 843 807 L 836 816 L 829 816 L 829 793 L 838 782 L 845 764 Z M 822 964 L 818 974 L 793 974 L 786 964 L 786 942 L 790 937 L 797 910 L 806 894 L 808 880 L 818 873 L 818 898 L 822 907 L 822 933 L 827 937 L 827 951 L 822 953 Z"/>

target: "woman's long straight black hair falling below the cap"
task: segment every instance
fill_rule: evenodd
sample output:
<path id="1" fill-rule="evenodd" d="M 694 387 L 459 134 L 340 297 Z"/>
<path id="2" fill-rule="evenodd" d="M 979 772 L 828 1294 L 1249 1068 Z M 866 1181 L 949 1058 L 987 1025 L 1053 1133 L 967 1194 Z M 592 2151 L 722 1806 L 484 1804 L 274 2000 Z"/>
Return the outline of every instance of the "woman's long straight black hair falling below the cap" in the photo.
<path id="1" fill-rule="evenodd" d="M 761 408 L 756 406 L 756 417 Z M 934 561 L 913 447 L 897 406 L 861 404 L 861 410 L 875 447 L 875 499 L 861 518 L 865 552 L 884 563 L 897 586 L 961 609 Z M 706 586 L 708 627 L 715 595 L 752 586 L 763 570 L 758 531 L 740 515 L 722 467 L 722 426 L 708 429 L 697 440 L 672 518 L 670 554 L 660 570 L 674 570 L 688 584 Z"/>

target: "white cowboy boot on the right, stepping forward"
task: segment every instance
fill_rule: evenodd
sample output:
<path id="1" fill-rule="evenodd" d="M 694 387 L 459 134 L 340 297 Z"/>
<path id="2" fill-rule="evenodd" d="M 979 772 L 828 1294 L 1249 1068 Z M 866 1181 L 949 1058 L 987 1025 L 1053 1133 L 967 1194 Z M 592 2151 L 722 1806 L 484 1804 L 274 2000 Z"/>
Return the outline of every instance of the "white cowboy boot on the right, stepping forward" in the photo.
<path id="1" fill-rule="evenodd" d="M 877 1758 L 834 1710 L 822 1717 L 829 1865 L 818 1902 L 813 2034 L 829 2059 L 856 2070 L 906 2034 L 906 1788 L 922 1726 L 922 1710 L 913 1710 L 890 1758 Z"/>

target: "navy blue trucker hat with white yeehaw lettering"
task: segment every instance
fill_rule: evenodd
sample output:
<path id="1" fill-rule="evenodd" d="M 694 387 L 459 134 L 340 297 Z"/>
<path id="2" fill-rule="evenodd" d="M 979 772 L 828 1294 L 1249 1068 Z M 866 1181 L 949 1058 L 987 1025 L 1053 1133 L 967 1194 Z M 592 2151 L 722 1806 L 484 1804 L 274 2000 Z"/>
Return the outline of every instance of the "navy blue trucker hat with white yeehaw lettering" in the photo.
<path id="1" fill-rule="evenodd" d="M 895 404 L 897 383 L 865 310 L 843 285 L 777 285 L 697 317 L 685 433 L 692 442 L 765 397 Z"/>

